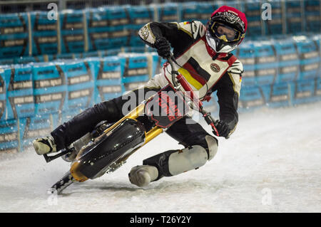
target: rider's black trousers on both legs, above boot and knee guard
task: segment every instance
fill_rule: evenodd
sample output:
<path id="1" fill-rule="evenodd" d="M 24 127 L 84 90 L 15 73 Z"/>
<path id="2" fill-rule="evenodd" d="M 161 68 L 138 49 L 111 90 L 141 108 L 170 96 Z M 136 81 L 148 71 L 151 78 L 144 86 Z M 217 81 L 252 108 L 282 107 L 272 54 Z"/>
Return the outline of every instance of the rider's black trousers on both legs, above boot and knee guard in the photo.
<path id="1" fill-rule="evenodd" d="M 136 95 L 136 106 L 144 100 L 139 94 L 148 92 L 156 92 L 158 89 L 144 88 L 143 90 L 133 90 L 131 93 Z M 141 95 L 142 96 L 142 95 Z M 124 98 L 123 98 L 124 97 Z M 94 127 L 101 121 L 117 122 L 123 117 L 123 105 L 128 101 L 126 96 L 116 97 L 112 100 L 100 102 L 91 108 L 88 108 L 80 114 L 73 117 L 68 122 L 64 122 L 51 132 L 54 137 L 57 150 L 68 147 L 72 142 L 81 138 L 87 132 L 91 132 Z M 128 110 L 129 111 L 129 110 Z M 188 124 L 186 122 L 188 120 Z M 203 127 L 190 119 L 190 117 L 183 117 L 175 122 L 167 131 L 170 137 L 176 139 L 183 146 L 188 147 L 192 145 L 200 145 L 207 148 L 205 136 L 208 134 Z"/>

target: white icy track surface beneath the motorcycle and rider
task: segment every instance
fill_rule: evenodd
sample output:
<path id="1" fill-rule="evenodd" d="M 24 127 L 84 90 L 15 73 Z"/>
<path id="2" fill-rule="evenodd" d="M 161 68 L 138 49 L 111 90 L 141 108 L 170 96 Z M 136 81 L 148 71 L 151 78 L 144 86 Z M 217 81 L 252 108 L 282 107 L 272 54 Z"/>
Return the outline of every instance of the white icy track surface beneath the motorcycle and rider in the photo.
<path id="1" fill-rule="evenodd" d="M 0 212 L 321 212 L 321 103 L 240 114 L 230 139 L 198 170 L 139 189 L 131 167 L 180 145 L 167 134 L 112 174 L 48 189 L 69 168 L 34 151 L 0 157 Z M 209 127 L 205 127 L 207 130 Z"/>

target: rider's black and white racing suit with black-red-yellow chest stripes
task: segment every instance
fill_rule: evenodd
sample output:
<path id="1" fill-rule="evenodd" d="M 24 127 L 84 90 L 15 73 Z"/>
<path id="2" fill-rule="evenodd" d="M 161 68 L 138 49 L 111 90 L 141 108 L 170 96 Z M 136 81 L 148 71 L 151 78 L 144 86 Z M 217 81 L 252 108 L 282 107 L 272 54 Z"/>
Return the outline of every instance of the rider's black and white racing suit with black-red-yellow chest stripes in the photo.
<path id="1" fill-rule="evenodd" d="M 206 43 L 205 30 L 205 26 L 200 21 L 151 22 L 143 26 L 138 31 L 138 35 L 152 47 L 155 47 L 154 43 L 157 38 L 164 37 L 169 41 L 173 48 L 173 56 L 180 65 L 178 72 L 185 77 L 193 90 L 198 91 L 201 100 L 208 100 L 210 94 L 217 91 L 220 120 L 228 124 L 229 134 L 232 134 L 238 123 L 238 97 L 243 65 L 231 53 L 215 53 Z M 155 75 L 144 88 L 141 88 L 144 90 L 143 93 L 157 92 L 168 83 L 172 83 L 170 71 L 170 65 L 165 63 L 161 73 Z M 132 90 L 131 93 L 138 94 L 139 89 Z M 100 102 L 58 126 L 56 130 L 51 132 L 57 149 L 67 147 L 83 134 L 93 130 L 102 120 L 108 122 L 120 120 L 124 116 L 122 107 L 126 101 L 123 97 L 116 97 Z M 136 105 L 138 105 L 142 100 L 136 101 Z M 189 124 L 186 124 L 187 120 L 189 120 Z M 166 133 L 185 147 L 199 145 L 208 151 L 210 148 L 205 137 L 212 136 L 197 122 L 193 122 L 193 124 L 190 122 L 193 122 L 190 117 L 183 117 L 171 125 Z M 217 144 L 217 139 L 215 141 Z M 161 166 L 164 166 L 163 160 L 168 159 L 173 152 L 163 152 L 156 157 L 146 159 L 144 164 L 158 167 L 158 179 L 162 176 L 171 176 L 173 174 L 170 174 L 168 167 Z"/>

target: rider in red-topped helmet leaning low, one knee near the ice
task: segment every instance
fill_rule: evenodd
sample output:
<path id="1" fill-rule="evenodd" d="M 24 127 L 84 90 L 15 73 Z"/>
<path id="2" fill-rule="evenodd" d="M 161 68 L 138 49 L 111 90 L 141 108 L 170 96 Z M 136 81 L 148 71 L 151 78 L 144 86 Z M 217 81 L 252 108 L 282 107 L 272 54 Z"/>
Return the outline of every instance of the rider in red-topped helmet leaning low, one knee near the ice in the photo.
<path id="1" fill-rule="evenodd" d="M 143 26 L 138 35 L 149 46 L 156 48 L 163 58 L 173 57 L 180 72 L 201 100 L 208 100 L 217 91 L 220 107 L 217 130 L 220 137 L 228 138 L 238 123 L 238 98 L 243 65 L 233 56 L 233 51 L 245 37 L 247 20 L 245 14 L 230 6 L 221 6 L 213 12 L 206 26 L 200 21 L 158 23 Z M 168 64 L 143 88 L 132 90 L 138 94 L 158 91 L 171 82 Z M 138 97 L 138 96 L 136 96 Z M 116 122 L 123 117 L 121 112 L 126 99 L 116 97 L 100 102 L 59 125 L 51 135 L 35 139 L 37 154 L 58 152 L 76 139 L 90 132 L 101 121 Z M 138 105 L 138 100 L 136 100 Z M 188 120 L 188 123 L 186 121 Z M 193 122 L 193 124 L 191 123 Z M 143 165 L 133 167 L 128 174 L 132 184 L 146 186 L 163 176 L 174 176 L 196 169 L 212 159 L 218 150 L 218 139 L 208 134 L 203 127 L 185 116 L 165 131 L 183 144 L 184 149 L 173 149 L 143 160 Z M 213 132 L 215 136 L 218 136 Z"/>

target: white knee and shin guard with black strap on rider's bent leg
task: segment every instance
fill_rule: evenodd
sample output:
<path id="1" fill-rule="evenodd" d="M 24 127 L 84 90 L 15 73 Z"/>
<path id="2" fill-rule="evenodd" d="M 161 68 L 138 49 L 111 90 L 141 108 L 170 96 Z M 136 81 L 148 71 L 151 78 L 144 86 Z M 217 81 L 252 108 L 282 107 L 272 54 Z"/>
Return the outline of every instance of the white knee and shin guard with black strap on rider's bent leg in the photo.
<path id="1" fill-rule="evenodd" d="M 145 159 L 143 165 L 150 165 L 158 169 L 158 179 L 163 176 L 174 176 L 185 171 L 198 169 L 206 161 L 213 159 L 218 151 L 217 140 L 207 135 L 205 140 L 208 144 L 206 148 L 200 145 L 193 145 L 180 150 L 170 150 Z"/>

